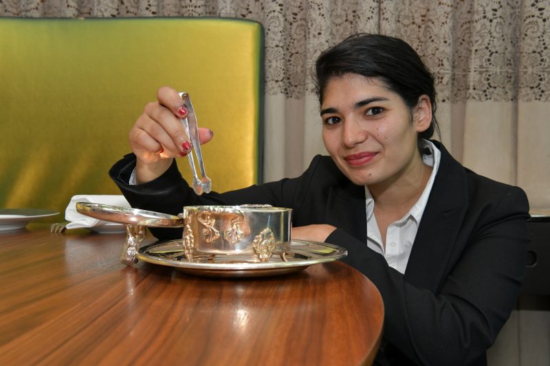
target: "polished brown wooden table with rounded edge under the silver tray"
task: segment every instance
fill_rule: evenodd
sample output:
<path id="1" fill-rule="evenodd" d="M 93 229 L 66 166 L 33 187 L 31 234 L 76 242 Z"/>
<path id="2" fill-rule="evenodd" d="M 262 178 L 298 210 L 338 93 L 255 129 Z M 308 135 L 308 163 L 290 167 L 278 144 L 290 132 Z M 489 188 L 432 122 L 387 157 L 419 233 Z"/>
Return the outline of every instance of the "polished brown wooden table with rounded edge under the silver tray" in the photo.
<path id="1" fill-rule="evenodd" d="M 120 264 L 123 241 L 45 225 L 0 233 L 1 365 L 373 361 L 384 306 L 347 264 L 259 279 L 193 277 Z"/>

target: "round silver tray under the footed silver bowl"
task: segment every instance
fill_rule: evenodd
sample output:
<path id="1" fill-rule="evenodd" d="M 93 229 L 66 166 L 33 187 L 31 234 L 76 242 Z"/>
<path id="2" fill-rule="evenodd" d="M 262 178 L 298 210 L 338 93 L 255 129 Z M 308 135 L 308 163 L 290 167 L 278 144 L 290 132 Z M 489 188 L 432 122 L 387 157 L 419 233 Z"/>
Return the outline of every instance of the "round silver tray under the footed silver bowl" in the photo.
<path id="1" fill-rule="evenodd" d="M 256 255 L 194 255 L 188 262 L 181 240 L 148 244 L 135 254 L 138 260 L 172 266 L 190 275 L 208 277 L 264 277 L 302 271 L 313 264 L 332 262 L 347 255 L 338 245 L 292 240 L 290 249 L 261 262 Z"/>

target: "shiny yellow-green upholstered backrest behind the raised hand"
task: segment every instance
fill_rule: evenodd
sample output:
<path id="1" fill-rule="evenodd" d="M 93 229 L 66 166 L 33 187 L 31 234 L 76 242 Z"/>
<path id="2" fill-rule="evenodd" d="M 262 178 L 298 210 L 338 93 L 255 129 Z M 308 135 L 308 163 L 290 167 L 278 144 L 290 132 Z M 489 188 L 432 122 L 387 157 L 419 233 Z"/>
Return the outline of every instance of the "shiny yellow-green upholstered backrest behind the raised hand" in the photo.
<path id="1" fill-rule="evenodd" d="M 75 194 L 118 194 L 146 102 L 190 93 L 212 189 L 261 176 L 263 28 L 218 18 L 0 19 L 0 207 L 63 211 Z M 179 168 L 187 178 L 186 159 Z"/>

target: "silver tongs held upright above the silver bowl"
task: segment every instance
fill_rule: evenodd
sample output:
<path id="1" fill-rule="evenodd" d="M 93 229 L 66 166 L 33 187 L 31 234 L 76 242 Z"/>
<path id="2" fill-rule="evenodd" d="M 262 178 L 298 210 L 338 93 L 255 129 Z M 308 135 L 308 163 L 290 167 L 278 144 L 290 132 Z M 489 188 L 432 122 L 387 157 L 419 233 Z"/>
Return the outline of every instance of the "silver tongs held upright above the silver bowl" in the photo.
<path id="1" fill-rule="evenodd" d="M 189 98 L 189 93 L 183 91 L 179 93 L 179 96 L 184 100 L 184 106 L 187 108 L 187 116 L 181 119 L 181 122 L 184 124 L 185 132 L 191 139 L 192 150 L 195 150 L 195 154 L 197 154 L 197 161 L 199 163 L 199 169 L 201 170 L 201 179 L 199 179 L 191 150 L 187 155 L 187 158 L 189 159 L 189 165 L 193 174 L 192 187 L 196 194 L 200 195 L 203 193 L 209 193 L 212 188 L 212 181 L 206 175 L 206 170 L 204 169 L 204 163 L 202 161 L 201 141 L 199 139 L 199 128 L 197 127 L 197 115 L 195 115 L 195 109 L 193 109 L 191 98 Z"/>

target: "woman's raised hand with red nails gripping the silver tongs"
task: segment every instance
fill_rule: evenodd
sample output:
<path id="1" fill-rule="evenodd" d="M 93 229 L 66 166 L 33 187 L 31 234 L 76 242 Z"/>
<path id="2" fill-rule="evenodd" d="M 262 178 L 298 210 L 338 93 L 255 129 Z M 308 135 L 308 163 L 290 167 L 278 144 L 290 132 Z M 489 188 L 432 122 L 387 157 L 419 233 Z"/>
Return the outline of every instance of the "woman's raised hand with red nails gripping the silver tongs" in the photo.
<path id="1" fill-rule="evenodd" d="M 137 183 L 156 179 L 166 172 L 173 158 L 184 157 L 191 151 L 191 141 L 180 120 L 187 112 L 184 101 L 170 87 L 161 87 L 157 102 L 145 106 L 129 134 L 132 152 L 137 157 Z M 212 135 L 212 130 L 199 128 L 201 144 L 210 141 Z"/>

